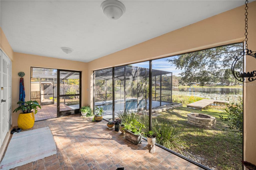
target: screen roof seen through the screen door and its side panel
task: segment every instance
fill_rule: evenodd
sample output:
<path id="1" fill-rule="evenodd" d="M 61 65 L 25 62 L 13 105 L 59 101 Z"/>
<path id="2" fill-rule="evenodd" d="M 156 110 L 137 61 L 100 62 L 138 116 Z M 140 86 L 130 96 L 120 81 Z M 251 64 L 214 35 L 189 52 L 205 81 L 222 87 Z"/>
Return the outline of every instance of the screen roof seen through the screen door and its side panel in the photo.
<path id="1" fill-rule="evenodd" d="M 57 79 L 57 69 L 31 67 L 31 78 Z M 60 80 L 79 79 L 79 72 L 60 71 Z"/>

